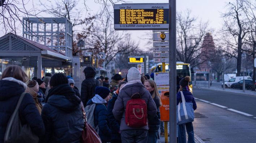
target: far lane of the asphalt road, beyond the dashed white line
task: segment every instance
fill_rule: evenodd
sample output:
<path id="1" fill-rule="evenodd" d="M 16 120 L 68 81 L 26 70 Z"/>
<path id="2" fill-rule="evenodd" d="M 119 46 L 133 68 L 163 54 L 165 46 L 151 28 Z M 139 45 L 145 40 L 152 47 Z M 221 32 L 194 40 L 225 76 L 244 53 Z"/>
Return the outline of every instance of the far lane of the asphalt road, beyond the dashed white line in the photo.
<path id="1" fill-rule="evenodd" d="M 204 100 L 203 102 L 208 101 L 209 104 L 225 106 L 218 106 L 224 110 L 236 110 L 234 112 L 256 120 L 256 96 L 207 89 L 193 89 L 193 96 Z"/>

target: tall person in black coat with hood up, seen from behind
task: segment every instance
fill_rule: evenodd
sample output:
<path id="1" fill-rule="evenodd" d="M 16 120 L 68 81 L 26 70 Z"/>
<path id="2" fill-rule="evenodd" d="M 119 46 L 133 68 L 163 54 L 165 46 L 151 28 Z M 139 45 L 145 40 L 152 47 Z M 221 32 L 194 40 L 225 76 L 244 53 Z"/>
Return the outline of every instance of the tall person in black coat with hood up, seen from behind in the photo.
<path id="1" fill-rule="evenodd" d="M 94 97 L 95 88 L 100 86 L 99 80 L 95 79 L 96 70 L 95 68 L 88 66 L 84 69 L 85 80 L 82 82 L 81 86 L 81 100 L 86 106 L 86 103 Z"/>

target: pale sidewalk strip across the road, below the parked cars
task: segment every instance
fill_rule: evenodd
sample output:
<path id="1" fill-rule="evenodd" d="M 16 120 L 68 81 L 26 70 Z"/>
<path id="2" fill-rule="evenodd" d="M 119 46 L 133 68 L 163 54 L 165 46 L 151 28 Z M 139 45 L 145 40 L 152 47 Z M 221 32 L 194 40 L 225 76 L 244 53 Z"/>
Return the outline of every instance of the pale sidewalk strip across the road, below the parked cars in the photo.
<path id="1" fill-rule="evenodd" d="M 208 88 L 205 87 L 205 86 L 200 86 L 200 84 L 197 84 L 194 86 L 194 88 L 197 88 L 197 89 L 209 89 L 209 90 L 214 90 L 214 91 L 223 91 L 223 92 L 232 92 L 232 93 L 238 93 L 238 94 L 247 94 L 247 95 L 254 95 L 256 96 L 256 91 L 251 91 L 251 90 L 245 90 L 245 92 L 243 92 L 243 90 L 241 89 L 231 89 L 231 88 L 225 88 L 225 90 L 223 90 L 222 87 L 210 87 Z"/>

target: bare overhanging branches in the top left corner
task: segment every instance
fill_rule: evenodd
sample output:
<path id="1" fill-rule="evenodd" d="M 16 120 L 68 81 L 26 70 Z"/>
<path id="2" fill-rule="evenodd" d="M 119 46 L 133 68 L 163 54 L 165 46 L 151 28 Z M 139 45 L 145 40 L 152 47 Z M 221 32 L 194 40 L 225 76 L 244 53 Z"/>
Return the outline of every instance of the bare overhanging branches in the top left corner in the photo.
<path id="1" fill-rule="evenodd" d="M 28 3 L 32 3 L 32 7 L 28 6 Z M 34 3 L 30 0 L 0 0 L 0 9 L 0 24 L 3 25 L 1 31 L 5 34 L 19 33 L 18 28 L 24 25 L 22 17 L 37 17 L 42 12 L 36 12 Z"/>

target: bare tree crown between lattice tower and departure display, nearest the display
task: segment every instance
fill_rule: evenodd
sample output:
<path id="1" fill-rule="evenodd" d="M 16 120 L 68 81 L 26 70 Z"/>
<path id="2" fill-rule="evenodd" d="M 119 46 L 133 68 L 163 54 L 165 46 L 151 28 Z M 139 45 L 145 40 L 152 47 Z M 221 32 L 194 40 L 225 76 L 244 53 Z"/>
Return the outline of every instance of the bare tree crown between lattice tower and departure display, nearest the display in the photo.
<path id="1" fill-rule="evenodd" d="M 104 52 L 106 55 L 105 66 L 117 54 L 129 53 L 137 49 L 138 44 L 131 40 L 129 33 L 114 30 L 114 25 L 109 14 L 104 13 L 102 17 L 96 19 L 95 23 L 98 24 L 93 26 L 93 34 L 87 40 L 90 46 L 84 50 Z"/>

